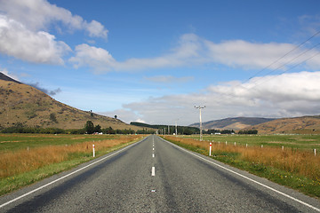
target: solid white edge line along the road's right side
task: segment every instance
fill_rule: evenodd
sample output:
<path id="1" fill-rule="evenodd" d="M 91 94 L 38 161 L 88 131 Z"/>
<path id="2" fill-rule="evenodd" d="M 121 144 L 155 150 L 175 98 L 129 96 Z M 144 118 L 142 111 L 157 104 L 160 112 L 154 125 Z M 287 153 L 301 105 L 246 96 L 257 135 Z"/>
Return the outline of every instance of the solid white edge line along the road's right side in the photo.
<path id="1" fill-rule="evenodd" d="M 162 139 L 163 139 L 163 138 L 162 138 Z M 163 140 L 164 140 L 164 139 L 163 139 Z M 166 141 L 166 140 L 164 140 L 164 141 L 167 142 L 167 143 L 171 143 L 171 142 Z M 245 179 L 250 180 L 250 181 L 252 181 L 253 183 L 255 183 L 255 184 L 257 184 L 257 185 L 261 185 L 261 186 L 263 186 L 263 187 L 265 187 L 265 188 L 268 188 L 268 189 L 271 190 L 271 191 L 274 191 L 275 193 L 279 193 L 279 194 L 283 195 L 284 197 L 287 197 L 287 198 L 289 198 L 289 199 L 292 199 L 293 201 L 300 202 L 300 204 L 303 204 L 303 205 L 305 205 L 305 206 L 308 206 L 308 207 L 311 208 L 311 209 L 315 209 L 316 211 L 320 212 L 320 209 L 318 209 L 318 208 L 316 208 L 316 207 L 308 204 L 307 202 L 300 201 L 300 200 L 298 200 L 298 199 L 290 196 L 289 194 L 280 192 L 280 191 L 278 191 L 278 190 L 276 190 L 276 189 L 274 189 L 274 188 L 272 188 L 272 187 L 270 187 L 270 186 L 268 186 L 268 185 L 264 185 L 264 184 L 262 184 L 262 183 L 260 183 L 260 182 L 258 182 L 258 181 L 256 181 L 256 180 L 254 180 L 254 179 L 252 179 L 252 178 L 250 178 L 250 177 L 246 177 L 246 176 L 244 176 L 244 175 L 242 175 L 242 174 L 240 174 L 240 173 L 237 173 L 236 171 L 229 170 L 228 168 L 223 167 L 223 166 L 219 165 L 218 163 L 211 162 L 211 161 L 209 161 L 209 160 L 207 160 L 207 159 L 205 159 L 205 158 L 203 158 L 203 157 L 201 157 L 201 156 L 198 156 L 197 154 L 193 154 L 193 153 L 191 153 L 190 151 L 188 151 L 188 150 L 186 150 L 186 149 L 184 149 L 184 148 L 182 148 L 182 147 L 180 147 L 180 146 L 177 146 L 177 145 L 175 145 L 175 144 L 173 144 L 173 143 L 171 143 L 171 144 L 172 144 L 173 146 L 176 146 L 177 148 L 180 148 L 181 150 L 185 151 L 185 152 L 188 153 L 188 154 L 192 154 L 192 155 L 196 156 L 197 158 L 200 158 L 200 159 L 203 160 L 204 162 L 210 162 L 210 163 L 214 164 L 215 166 L 220 167 L 220 168 L 223 169 L 223 170 L 228 170 L 229 172 L 234 173 L 234 174 L 236 174 L 237 176 L 244 177 Z"/>

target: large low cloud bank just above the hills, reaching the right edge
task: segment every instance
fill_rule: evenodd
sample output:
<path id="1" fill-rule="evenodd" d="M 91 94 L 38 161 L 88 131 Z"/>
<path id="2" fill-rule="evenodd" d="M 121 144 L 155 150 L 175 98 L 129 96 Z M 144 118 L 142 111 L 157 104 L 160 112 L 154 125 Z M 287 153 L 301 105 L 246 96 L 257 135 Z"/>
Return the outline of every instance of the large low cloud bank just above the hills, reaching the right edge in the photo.
<path id="1" fill-rule="evenodd" d="M 197 93 L 153 97 L 124 105 L 126 120 L 180 124 L 198 122 L 194 106 L 205 105 L 203 121 L 234 117 L 320 114 L 320 71 L 252 78 L 211 85 Z"/>

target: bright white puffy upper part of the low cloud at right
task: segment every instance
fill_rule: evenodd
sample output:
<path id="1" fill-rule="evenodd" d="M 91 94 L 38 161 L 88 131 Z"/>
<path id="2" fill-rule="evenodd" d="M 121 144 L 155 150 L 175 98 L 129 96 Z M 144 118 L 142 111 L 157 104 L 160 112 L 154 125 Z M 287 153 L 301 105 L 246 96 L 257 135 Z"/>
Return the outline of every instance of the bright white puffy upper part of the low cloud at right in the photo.
<path id="1" fill-rule="evenodd" d="M 208 91 L 234 99 L 259 99 L 273 103 L 320 99 L 320 72 L 300 72 L 252 78 L 248 83 L 211 86 Z"/>

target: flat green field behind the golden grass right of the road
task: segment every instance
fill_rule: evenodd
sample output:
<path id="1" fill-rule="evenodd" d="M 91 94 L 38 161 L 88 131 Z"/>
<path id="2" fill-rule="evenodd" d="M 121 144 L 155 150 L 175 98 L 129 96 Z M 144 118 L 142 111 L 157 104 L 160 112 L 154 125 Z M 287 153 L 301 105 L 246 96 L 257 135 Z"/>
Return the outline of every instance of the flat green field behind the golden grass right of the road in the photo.
<path id="1" fill-rule="evenodd" d="M 199 135 L 193 135 L 183 138 L 198 139 Z M 299 148 L 310 150 L 319 149 L 320 151 L 320 135 L 204 135 L 204 140 L 220 143 L 242 145 L 245 146 L 274 146 L 281 148 Z"/>

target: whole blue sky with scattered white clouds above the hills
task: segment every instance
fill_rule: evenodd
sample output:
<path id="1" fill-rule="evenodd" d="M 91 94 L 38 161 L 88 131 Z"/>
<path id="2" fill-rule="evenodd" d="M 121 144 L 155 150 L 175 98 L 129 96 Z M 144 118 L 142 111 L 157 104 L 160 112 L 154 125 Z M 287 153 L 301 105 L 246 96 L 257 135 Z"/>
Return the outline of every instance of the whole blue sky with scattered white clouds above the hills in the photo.
<path id="1" fill-rule="evenodd" d="M 206 106 L 203 121 L 320 114 L 318 8 L 0 0 L 0 71 L 124 122 L 188 125 L 195 105 Z"/>

